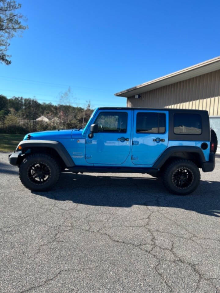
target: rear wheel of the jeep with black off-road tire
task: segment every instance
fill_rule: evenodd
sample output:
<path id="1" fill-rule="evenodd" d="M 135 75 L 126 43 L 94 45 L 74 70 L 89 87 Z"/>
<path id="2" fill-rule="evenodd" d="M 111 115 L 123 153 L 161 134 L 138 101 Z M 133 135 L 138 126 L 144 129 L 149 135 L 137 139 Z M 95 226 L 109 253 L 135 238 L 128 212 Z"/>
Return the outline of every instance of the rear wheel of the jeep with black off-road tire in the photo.
<path id="1" fill-rule="evenodd" d="M 176 174 L 177 175 L 183 174 L 181 176 L 185 176 L 185 177 L 183 177 L 183 179 L 175 179 Z M 179 181 L 183 182 L 181 183 L 183 184 L 183 186 L 178 186 Z M 178 160 L 172 161 L 164 169 L 163 185 L 172 194 L 178 194 L 178 195 L 190 194 L 194 190 L 196 190 L 199 183 L 200 183 L 199 168 L 196 166 L 195 163 L 193 163 L 190 160 L 178 159 Z"/>

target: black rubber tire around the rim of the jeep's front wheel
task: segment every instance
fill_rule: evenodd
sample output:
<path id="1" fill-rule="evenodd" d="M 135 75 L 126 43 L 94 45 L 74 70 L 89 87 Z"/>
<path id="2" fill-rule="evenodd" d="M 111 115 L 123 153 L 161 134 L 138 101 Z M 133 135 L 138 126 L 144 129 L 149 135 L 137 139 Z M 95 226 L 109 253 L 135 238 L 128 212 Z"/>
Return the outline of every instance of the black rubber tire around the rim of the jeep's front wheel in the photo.
<path id="1" fill-rule="evenodd" d="M 33 168 L 31 166 L 33 166 L 34 164 L 36 165 L 41 164 L 42 166 L 45 166 L 47 170 L 46 172 L 48 173 L 48 175 L 44 175 L 47 177 L 45 182 L 41 183 L 40 177 L 39 177 L 39 183 L 36 181 L 37 179 L 36 180 L 31 179 L 31 177 L 33 176 L 30 176 L 30 169 Z M 52 186 L 54 186 L 57 183 L 60 177 L 60 166 L 58 165 L 55 158 L 48 154 L 43 154 L 43 153 L 31 154 L 28 157 L 24 158 L 24 160 L 20 164 L 19 177 L 20 177 L 21 183 L 29 190 L 46 191 L 46 190 L 49 190 Z"/>

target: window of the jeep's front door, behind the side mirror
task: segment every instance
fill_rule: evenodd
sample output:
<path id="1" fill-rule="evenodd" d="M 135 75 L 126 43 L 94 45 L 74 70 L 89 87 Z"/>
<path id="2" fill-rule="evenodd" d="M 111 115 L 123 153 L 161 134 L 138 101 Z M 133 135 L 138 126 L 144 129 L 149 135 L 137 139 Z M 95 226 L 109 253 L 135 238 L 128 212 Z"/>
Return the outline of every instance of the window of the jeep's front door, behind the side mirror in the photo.
<path id="1" fill-rule="evenodd" d="M 99 132 L 127 132 L 127 112 L 101 112 L 96 118 Z"/>

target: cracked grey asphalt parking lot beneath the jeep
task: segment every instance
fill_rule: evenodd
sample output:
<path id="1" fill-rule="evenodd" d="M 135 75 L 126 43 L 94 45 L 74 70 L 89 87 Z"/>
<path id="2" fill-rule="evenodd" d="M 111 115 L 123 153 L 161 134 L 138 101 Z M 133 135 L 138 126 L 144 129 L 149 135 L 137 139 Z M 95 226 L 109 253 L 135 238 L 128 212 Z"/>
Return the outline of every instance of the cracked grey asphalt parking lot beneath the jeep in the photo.
<path id="1" fill-rule="evenodd" d="M 0 153 L 0 197 L 1 293 L 220 292 L 220 165 L 185 197 L 139 174 L 37 193 Z"/>

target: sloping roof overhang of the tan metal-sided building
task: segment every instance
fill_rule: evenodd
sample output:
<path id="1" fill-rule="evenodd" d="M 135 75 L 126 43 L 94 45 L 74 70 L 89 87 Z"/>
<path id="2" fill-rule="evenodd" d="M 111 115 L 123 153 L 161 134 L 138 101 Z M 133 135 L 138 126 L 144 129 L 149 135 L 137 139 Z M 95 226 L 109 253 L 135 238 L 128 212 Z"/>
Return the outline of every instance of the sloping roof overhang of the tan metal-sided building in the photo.
<path id="1" fill-rule="evenodd" d="M 142 83 L 141 85 L 134 86 L 133 88 L 126 89 L 122 92 L 117 92 L 115 96 L 130 97 L 142 92 L 148 92 L 152 89 L 158 89 L 165 85 L 171 85 L 172 83 L 183 81 L 189 78 L 193 78 L 202 74 L 206 74 L 211 71 L 220 69 L 220 56 L 207 60 L 205 62 L 187 67 L 185 69 L 176 71 L 171 74 L 164 75 L 160 78 Z"/>

